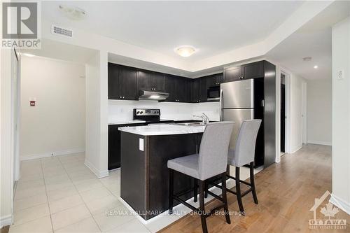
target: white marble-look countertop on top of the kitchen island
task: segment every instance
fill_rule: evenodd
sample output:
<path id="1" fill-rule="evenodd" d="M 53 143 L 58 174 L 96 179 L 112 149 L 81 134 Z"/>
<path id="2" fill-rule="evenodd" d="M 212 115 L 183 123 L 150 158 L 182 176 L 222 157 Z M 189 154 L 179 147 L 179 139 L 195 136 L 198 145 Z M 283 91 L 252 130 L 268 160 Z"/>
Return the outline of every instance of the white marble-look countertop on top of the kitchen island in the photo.
<path id="1" fill-rule="evenodd" d="M 172 135 L 172 134 L 195 134 L 204 132 L 204 125 L 146 125 L 120 127 L 119 130 L 143 136 Z"/>

